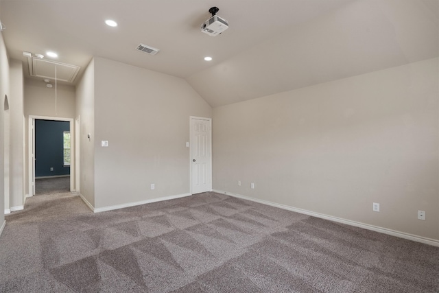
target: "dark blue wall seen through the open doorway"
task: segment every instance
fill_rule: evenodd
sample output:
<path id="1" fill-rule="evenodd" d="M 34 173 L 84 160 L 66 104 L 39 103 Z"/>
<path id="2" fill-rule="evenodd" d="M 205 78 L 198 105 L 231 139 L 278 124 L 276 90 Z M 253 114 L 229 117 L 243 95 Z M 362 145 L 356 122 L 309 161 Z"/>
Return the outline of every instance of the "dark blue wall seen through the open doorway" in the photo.
<path id="1" fill-rule="evenodd" d="M 70 174 L 64 167 L 64 131 L 70 130 L 69 122 L 35 120 L 35 176 Z M 53 167 L 54 171 L 50 171 Z"/>

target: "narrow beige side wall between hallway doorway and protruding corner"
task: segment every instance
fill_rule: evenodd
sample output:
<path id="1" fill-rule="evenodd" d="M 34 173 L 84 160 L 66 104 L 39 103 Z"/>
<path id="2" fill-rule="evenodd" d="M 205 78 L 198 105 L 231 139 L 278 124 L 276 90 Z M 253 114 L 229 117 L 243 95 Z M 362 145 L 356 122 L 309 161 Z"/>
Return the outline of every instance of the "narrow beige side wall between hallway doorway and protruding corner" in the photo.
<path id="1" fill-rule="evenodd" d="M 79 144 L 80 193 L 95 206 L 95 60 L 84 71 L 76 86 L 75 139 Z M 90 139 L 87 135 L 90 134 Z M 78 143 L 79 142 L 79 143 Z M 78 160 L 77 160 L 78 162 Z"/>

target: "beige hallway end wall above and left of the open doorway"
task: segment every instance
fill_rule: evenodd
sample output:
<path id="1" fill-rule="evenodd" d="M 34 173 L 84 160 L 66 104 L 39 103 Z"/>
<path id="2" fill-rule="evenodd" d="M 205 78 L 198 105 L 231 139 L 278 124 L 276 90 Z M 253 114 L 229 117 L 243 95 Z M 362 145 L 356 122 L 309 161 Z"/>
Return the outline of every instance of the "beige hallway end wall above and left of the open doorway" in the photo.
<path id="1" fill-rule="evenodd" d="M 29 115 L 75 118 L 75 87 L 64 84 L 48 88 L 43 80 L 25 79 L 24 82 L 24 127 L 25 127 L 25 194 L 29 195 Z"/>

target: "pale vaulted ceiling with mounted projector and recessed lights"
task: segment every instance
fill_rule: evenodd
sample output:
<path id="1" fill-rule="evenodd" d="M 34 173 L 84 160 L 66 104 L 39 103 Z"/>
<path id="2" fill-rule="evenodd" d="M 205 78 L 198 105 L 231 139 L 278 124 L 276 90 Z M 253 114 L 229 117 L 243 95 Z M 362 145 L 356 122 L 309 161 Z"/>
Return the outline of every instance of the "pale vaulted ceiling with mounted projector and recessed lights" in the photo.
<path id="1" fill-rule="evenodd" d="M 230 25 L 214 37 L 212 6 Z M 23 51 L 52 50 L 80 77 L 100 56 L 184 78 L 213 107 L 439 56 L 439 0 L 1 0 L 0 19 L 25 68 Z"/>

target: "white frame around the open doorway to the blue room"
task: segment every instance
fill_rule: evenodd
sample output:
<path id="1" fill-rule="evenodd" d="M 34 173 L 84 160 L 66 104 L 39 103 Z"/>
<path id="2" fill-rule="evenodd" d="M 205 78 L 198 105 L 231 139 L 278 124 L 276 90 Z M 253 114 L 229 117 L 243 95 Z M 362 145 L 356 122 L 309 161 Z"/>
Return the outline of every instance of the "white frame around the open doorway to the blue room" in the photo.
<path id="1" fill-rule="evenodd" d="M 50 117 L 50 116 L 37 116 L 29 115 L 29 126 L 27 129 L 29 148 L 28 148 L 28 158 L 29 158 L 29 196 L 34 196 L 35 194 L 35 120 L 51 120 L 51 121 L 65 121 L 69 122 L 70 126 L 70 191 L 75 191 L 75 132 L 74 132 L 74 119 L 64 118 L 64 117 Z"/>

